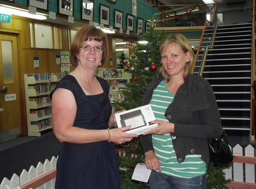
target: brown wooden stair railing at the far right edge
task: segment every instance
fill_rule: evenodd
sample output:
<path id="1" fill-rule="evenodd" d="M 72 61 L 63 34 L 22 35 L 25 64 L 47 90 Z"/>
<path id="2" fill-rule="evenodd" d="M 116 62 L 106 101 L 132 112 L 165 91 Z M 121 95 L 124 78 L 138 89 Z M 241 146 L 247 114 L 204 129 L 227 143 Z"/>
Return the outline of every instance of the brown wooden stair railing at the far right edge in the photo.
<path id="1" fill-rule="evenodd" d="M 253 0 L 253 5 L 255 5 L 255 0 Z M 251 53 L 251 86 L 255 80 L 255 8 L 253 8 L 253 18 L 252 18 L 252 53 Z M 254 86 L 255 87 L 255 86 Z M 255 94 L 253 87 L 251 88 L 251 119 L 250 119 L 250 142 L 255 143 Z"/>

